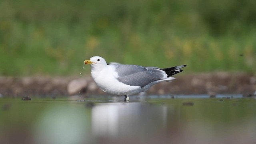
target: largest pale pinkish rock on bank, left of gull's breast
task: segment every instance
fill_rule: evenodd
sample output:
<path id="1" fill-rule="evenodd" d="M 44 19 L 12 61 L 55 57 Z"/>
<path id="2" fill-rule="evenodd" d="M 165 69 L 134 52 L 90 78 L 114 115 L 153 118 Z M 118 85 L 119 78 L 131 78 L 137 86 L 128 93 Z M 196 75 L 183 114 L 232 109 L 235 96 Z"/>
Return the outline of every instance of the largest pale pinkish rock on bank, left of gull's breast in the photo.
<path id="1" fill-rule="evenodd" d="M 67 86 L 68 94 L 74 95 L 74 94 L 78 94 L 79 92 L 85 91 L 87 88 L 87 85 L 88 83 L 84 78 L 71 80 Z"/>

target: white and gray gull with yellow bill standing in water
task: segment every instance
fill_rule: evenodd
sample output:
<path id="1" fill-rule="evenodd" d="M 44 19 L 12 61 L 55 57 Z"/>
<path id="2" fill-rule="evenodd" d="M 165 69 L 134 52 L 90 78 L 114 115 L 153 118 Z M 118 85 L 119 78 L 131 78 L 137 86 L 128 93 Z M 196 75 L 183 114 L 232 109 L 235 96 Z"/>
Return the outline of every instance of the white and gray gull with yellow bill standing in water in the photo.
<path id="1" fill-rule="evenodd" d="M 157 68 L 132 64 L 107 64 L 100 56 L 93 56 L 90 60 L 85 60 L 84 64 L 90 64 L 92 78 L 101 90 L 115 96 L 124 95 L 124 101 L 129 101 L 129 96 L 144 92 L 154 84 L 175 80 L 172 75 L 182 72 L 180 68 L 186 66 Z"/>

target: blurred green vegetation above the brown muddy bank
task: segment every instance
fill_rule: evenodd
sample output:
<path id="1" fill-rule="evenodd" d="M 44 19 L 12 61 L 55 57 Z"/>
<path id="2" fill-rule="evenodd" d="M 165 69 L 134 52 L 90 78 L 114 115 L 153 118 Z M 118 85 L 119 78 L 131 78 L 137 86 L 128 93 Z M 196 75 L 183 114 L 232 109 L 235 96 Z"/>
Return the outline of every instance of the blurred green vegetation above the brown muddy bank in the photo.
<path id="1" fill-rule="evenodd" d="M 256 71 L 253 0 L 1 0 L 0 75 L 79 75 L 83 61 Z"/>

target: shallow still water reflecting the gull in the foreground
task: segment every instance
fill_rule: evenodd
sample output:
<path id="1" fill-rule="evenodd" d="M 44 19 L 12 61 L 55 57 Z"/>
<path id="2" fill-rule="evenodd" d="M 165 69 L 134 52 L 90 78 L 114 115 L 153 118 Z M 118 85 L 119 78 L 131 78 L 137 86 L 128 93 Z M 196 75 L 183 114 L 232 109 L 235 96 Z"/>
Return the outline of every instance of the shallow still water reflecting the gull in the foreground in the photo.
<path id="1" fill-rule="evenodd" d="M 251 144 L 256 99 L 241 95 L 0 98 L 0 143 Z"/>

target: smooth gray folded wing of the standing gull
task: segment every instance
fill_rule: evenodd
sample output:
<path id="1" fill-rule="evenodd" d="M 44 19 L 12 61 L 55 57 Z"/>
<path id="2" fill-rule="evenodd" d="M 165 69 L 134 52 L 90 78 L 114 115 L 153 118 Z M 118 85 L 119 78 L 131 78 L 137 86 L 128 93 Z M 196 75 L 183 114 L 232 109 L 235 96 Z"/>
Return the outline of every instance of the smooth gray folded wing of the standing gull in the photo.
<path id="1" fill-rule="evenodd" d="M 117 79 L 130 86 L 144 87 L 151 82 L 166 78 L 164 71 L 156 67 L 143 67 L 137 65 L 120 64 L 117 65 Z"/>

